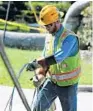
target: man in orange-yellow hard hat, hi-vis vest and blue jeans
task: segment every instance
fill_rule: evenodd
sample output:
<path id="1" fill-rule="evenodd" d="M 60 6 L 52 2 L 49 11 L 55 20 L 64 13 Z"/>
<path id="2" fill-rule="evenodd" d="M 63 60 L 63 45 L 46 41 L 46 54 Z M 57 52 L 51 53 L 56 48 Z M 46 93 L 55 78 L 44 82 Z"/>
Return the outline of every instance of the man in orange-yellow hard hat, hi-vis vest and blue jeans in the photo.
<path id="1" fill-rule="evenodd" d="M 43 58 L 28 63 L 27 70 L 40 67 L 50 73 L 34 101 L 33 111 L 46 111 L 59 98 L 62 111 L 77 111 L 77 85 L 80 77 L 78 37 L 59 21 L 55 6 L 47 5 L 40 12 L 40 23 L 53 35 L 46 38 Z M 38 80 L 46 73 L 37 74 Z"/>

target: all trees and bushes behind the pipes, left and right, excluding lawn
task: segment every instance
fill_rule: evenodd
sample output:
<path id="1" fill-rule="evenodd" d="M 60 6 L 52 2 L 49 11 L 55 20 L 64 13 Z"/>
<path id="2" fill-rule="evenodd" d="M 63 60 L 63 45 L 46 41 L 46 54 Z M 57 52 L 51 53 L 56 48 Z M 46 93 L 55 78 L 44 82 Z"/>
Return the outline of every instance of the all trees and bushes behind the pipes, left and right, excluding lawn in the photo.
<path id="1" fill-rule="evenodd" d="M 16 22 L 15 25 L 8 24 L 7 30 L 18 31 L 18 32 L 33 32 L 32 29 L 25 26 L 33 26 L 36 24 L 37 20 L 35 18 L 34 12 L 39 17 L 39 12 L 43 6 L 46 4 L 55 5 L 60 11 L 60 19 L 63 22 L 64 17 L 69 9 L 69 7 L 75 1 L 11 1 L 8 21 Z M 8 6 L 8 1 L 0 1 L 0 19 L 6 18 L 6 9 Z M 80 39 L 80 48 L 82 50 L 90 49 L 92 47 L 92 2 L 90 1 L 90 6 L 85 8 L 79 15 L 81 19 L 81 25 L 78 27 L 78 36 Z M 17 24 L 21 24 L 21 26 Z M 0 29 L 4 30 L 5 23 L 0 21 Z M 35 32 L 35 31 L 34 31 Z M 36 31 L 37 32 L 37 31 Z"/>

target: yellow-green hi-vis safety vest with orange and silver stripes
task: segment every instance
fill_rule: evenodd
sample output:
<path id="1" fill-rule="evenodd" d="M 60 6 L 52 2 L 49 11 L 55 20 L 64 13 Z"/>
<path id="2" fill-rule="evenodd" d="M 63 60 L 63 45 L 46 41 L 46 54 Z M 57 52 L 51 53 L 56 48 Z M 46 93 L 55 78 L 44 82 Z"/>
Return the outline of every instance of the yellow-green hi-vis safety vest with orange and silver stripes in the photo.
<path id="1" fill-rule="evenodd" d="M 73 32 L 64 30 L 59 38 L 56 51 L 60 49 L 62 42 L 68 35 L 74 35 Z M 53 54 L 53 37 L 46 40 L 46 54 Z M 54 83 L 59 86 L 68 86 L 78 82 L 81 72 L 79 52 L 75 56 L 67 57 L 61 63 L 50 66 L 50 75 Z"/>

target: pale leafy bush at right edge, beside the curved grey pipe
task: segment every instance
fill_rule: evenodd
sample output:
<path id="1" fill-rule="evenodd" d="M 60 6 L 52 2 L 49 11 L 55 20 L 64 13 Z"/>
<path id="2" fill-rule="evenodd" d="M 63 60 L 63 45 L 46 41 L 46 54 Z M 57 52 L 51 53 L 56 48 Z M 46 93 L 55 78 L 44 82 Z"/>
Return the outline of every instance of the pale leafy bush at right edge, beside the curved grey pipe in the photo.
<path id="1" fill-rule="evenodd" d="M 81 49 L 90 49 L 92 47 L 92 5 L 81 12 L 84 16 L 78 30 Z"/>

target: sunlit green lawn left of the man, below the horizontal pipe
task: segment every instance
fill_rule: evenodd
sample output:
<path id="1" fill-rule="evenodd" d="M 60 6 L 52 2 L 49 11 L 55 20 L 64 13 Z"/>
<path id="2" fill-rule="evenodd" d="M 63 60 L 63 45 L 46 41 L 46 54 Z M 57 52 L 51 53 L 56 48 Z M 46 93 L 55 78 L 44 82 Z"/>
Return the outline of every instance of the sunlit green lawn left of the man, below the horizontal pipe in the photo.
<path id="1" fill-rule="evenodd" d="M 18 74 L 19 70 L 22 66 L 31 60 L 34 60 L 37 57 L 40 57 L 40 51 L 27 51 L 27 50 L 18 50 L 18 49 L 11 49 L 6 48 L 6 53 L 8 58 L 11 62 L 11 65 L 16 73 Z M 23 71 L 20 77 L 21 86 L 24 88 L 32 88 L 33 84 L 30 81 L 30 78 L 33 77 L 33 72 L 27 72 L 26 70 Z M 13 86 L 12 80 L 3 64 L 3 61 L 0 57 L 0 84 L 2 85 L 9 85 Z"/>

